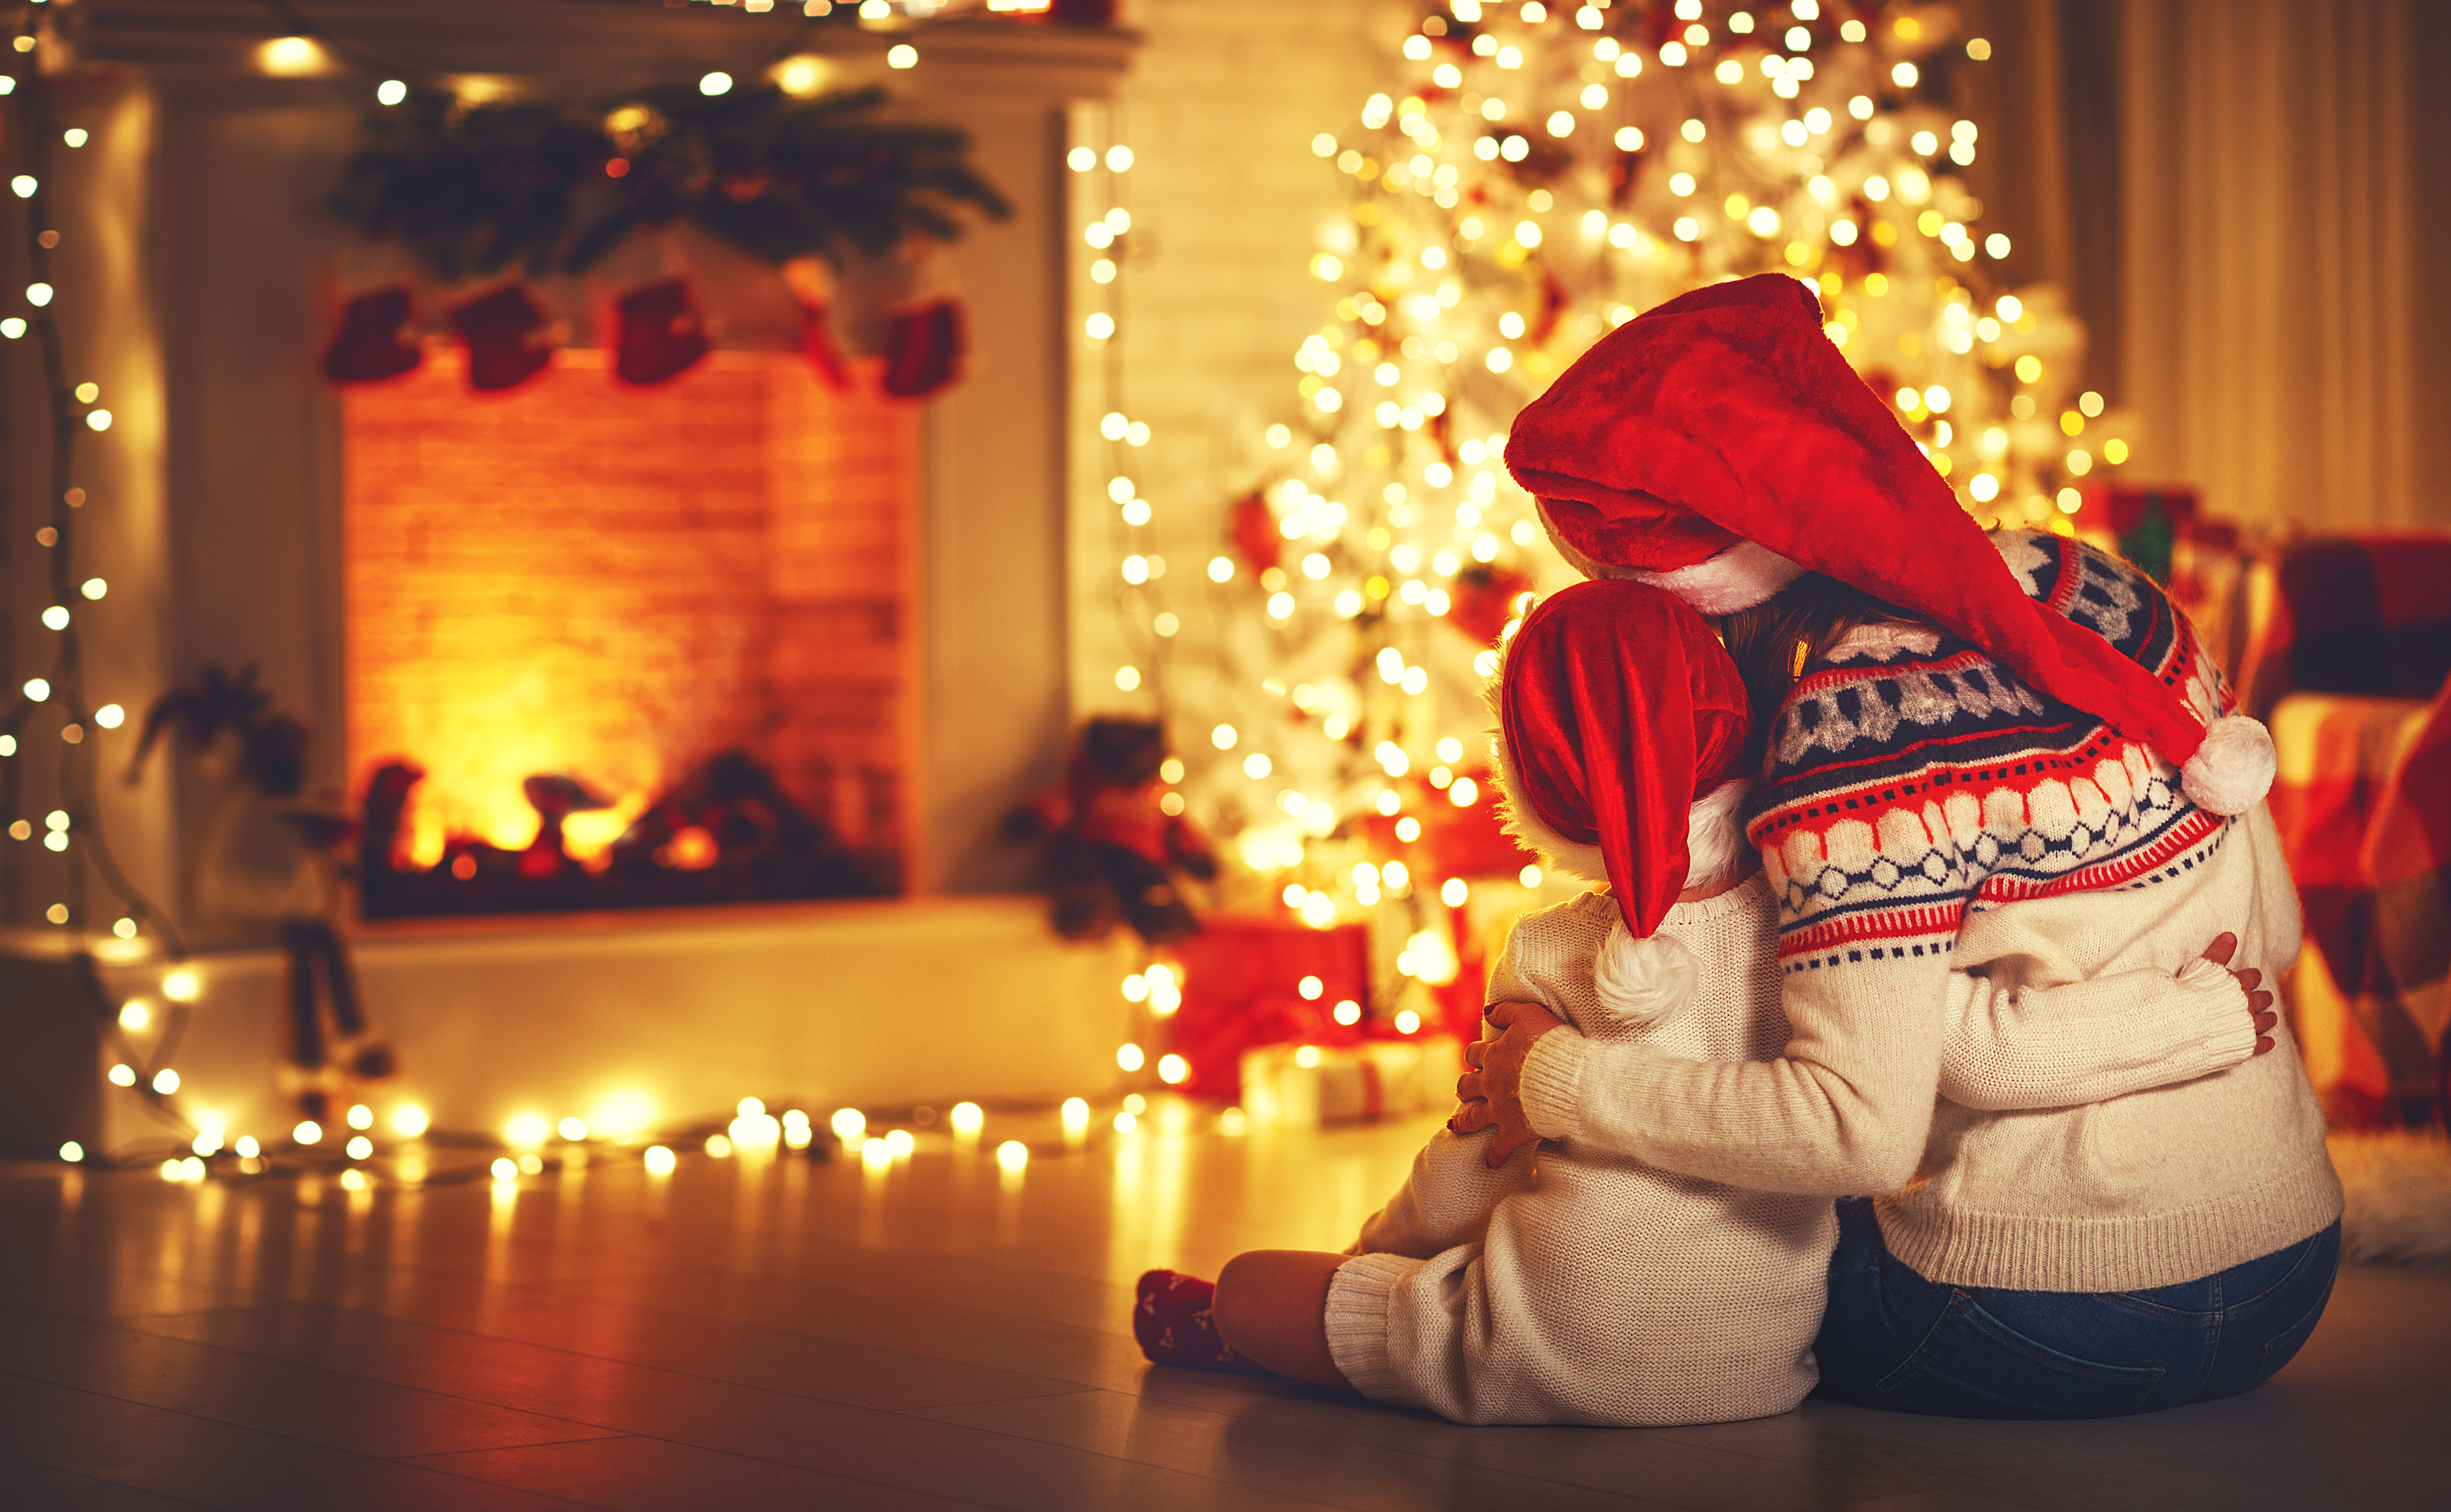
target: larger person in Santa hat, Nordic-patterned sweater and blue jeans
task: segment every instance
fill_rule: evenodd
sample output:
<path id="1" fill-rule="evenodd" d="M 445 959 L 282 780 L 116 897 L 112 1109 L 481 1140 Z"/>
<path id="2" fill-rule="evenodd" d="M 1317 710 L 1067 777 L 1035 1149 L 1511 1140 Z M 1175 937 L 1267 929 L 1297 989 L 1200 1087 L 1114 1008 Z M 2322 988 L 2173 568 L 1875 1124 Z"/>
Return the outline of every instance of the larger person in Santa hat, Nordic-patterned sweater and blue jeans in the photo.
<path id="1" fill-rule="evenodd" d="M 2194 627 L 2071 539 L 1985 537 L 1804 284 L 1674 299 L 1515 424 L 1588 576 L 1721 615 L 1767 735 L 1748 836 L 1779 904 L 1775 1061 L 1676 1061 L 1498 1005 L 1458 1127 L 1571 1137 L 1841 1206 L 1821 1389 L 1951 1416 L 2235 1394 L 2314 1331 L 2341 1184 L 2275 1054 L 2056 1113 L 1941 1088 L 1951 973 L 2000 988 L 2297 956 L 2272 743 Z"/>

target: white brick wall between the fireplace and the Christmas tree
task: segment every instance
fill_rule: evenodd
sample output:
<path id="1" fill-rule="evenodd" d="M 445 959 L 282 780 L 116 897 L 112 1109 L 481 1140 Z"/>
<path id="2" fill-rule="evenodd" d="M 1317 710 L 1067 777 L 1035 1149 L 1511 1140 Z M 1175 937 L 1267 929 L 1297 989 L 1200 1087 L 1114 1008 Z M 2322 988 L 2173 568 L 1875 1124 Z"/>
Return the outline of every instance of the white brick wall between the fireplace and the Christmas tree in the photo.
<path id="1" fill-rule="evenodd" d="M 1152 689 L 1115 686 L 1123 664 L 1150 669 L 1142 625 L 1157 608 L 1184 620 L 1174 642 L 1176 703 L 1199 708 L 1199 679 L 1216 625 L 1233 605 L 1257 615 L 1252 583 L 1216 588 L 1203 564 L 1223 546 L 1223 502 L 1260 475 L 1260 431 L 1294 419 L 1294 348 L 1333 319 L 1326 284 L 1309 277 L 1319 225 L 1338 216 L 1351 179 L 1311 154 L 1319 132 L 1358 130 L 1363 100 L 1397 78 L 1397 47 L 1414 7 L 1390 0 L 1135 0 L 1147 34 L 1113 113 L 1083 113 L 1076 140 L 1127 142 L 1135 164 L 1118 179 L 1132 213 L 1123 274 L 1098 289 L 1081 225 L 1108 206 L 1105 174 L 1074 174 L 1074 706 L 1076 713 L 1150 713 Z M 1118 316 L 1103 348 L 1081 338 L 1093 309 Z M 1098 436 L 1103 375 L 1120 409 L 1152 429 L 1147 446 Z M 1130 529 L 1108 500 L 1123 471 L 1154 505 Z M 1157 551 L 1167 576 L 1137 615 L 1118 615 L 1115 564 Z M 1184 720 L 1189 723 L 1189 720 Z M 1176 740 L 1199 740 L 1179 728 Z"/>

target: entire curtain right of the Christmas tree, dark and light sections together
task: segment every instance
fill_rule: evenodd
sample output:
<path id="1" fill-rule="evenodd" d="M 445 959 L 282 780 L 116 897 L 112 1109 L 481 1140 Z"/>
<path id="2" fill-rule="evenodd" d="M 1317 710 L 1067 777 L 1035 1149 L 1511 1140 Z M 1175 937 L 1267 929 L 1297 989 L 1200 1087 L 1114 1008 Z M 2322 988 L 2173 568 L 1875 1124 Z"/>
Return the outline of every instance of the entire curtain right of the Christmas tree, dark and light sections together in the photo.
<path id="1" fill-rule="evenodd" d="M 2451 527 L 2451 5 L 1963 10 L 1998 59 L 1976 189 L 2010 274 L 2086 316 L 2130 475 L 2257 524 Z"/>

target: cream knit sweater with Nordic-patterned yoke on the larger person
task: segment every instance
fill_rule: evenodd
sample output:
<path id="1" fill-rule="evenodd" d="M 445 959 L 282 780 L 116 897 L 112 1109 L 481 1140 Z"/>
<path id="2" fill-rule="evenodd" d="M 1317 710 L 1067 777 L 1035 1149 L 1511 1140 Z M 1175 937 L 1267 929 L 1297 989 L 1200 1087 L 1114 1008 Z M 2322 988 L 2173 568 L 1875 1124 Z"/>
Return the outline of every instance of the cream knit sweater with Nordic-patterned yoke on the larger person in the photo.
<path id="1" fill-rule="evenodd" d="M 2228 711 L 2147 578 L 2059 537 L 1993 542 L 2029 595 Z M 2238 966 L 2289 966 L 2297 890 L 2262 806 L 2196 809 L 2150 747 L 1904 625 L 1804 669 L 1767 765 L 1748 831 L 1779 902 L 1787 1056 L 1696 1068 L 1554 1032 L 1525 1066 L 1534 1130 L 1762 1191 L 1892 1193 L 1892 1252 L 1971 1287 L 2164 1287 L 2341 1213 L 2287 1032 L 2226 1076 L 2059 1113 L 1939 1098 L 1951 970 L 2179 970 L 2223 931 Z"/>

